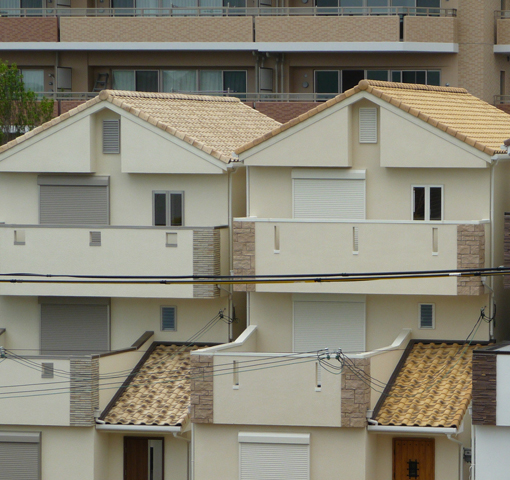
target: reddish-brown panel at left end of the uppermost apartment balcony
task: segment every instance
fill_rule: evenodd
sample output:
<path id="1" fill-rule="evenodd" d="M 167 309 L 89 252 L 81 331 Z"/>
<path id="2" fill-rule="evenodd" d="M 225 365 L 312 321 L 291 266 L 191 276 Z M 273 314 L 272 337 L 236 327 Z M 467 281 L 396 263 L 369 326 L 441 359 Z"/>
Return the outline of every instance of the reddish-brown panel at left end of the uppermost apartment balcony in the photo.
<path id="1" fill-rule="evenodd" d="M 58 19 L 0 18 L 0 42 L 58 42 Z"/>

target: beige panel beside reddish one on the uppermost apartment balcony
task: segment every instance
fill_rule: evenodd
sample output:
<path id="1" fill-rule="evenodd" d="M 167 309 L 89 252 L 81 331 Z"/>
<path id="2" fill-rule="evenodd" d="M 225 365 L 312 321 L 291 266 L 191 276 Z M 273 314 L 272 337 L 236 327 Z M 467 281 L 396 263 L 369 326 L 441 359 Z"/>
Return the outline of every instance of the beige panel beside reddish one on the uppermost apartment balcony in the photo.
<path id="1" fill-rule="evenodd" d="M 61 17 L 61 42 L 253 42 L 252 17 Z"/>

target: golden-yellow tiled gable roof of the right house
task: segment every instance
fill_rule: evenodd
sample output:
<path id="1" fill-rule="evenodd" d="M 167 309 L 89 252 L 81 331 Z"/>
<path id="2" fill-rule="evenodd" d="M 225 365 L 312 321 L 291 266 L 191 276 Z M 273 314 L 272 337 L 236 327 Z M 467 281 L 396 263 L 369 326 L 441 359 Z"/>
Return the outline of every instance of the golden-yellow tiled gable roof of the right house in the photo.
<path id="1" fill-rule="evenodd" d="M 506 153 L 501 150 L 501 145 L 510 137 L 510 115 L 467 90 L 376 80 L 361 80 L 356 87 L 243 145 L 236 153 L 245 152 L 362 91 L 391 103 L 487 155 Z"/>

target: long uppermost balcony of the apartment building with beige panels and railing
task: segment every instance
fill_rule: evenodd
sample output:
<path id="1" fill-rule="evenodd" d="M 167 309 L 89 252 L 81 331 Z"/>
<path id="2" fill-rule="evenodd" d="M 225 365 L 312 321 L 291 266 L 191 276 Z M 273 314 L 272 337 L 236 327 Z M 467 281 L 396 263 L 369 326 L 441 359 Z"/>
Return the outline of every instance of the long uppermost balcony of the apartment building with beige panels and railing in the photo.
<path id="1" fill-rule="evenodd" d="M 282 52 L 303 48 L 299 45 L 285 47 L 285 43 L 361 43 L 366 45 L 366 51 L 374 50 L 370 45 L 372 42 L 387 44 L 384 48 L 388 51 L 401 51 L 402 46 L 393 45 L 392 48 L 390 44 L 402 41 L 431 44 L 430 48 L 421 46 L 416 47 L 417 50 L 413 47 L 413 50 L 410 47 L 409 51 L 443 51 L 444 45 L 457 43 L 457 12 L 444 8 L 18 8 L 2 9 L 0 13 L 6 17 L 1 19 L 5 23 L 5 28 L 0 29 L 3 30 L 0 35 L 3 42 L 221 43 L 225 44 L 223 50 L 230 44 L 234 50 L 260 47 L 261 51 Z M 23 29 L 23 22 L 35 23 L 33 28 Z M 24 40 L 23 35 L 28 35 L 26 38 L 42 35 L 38 22 L 41 25 L 51 23 L 52 31 L 59 34 L 59 39 L 54 35 Z M 32 31 L 32 36 L 26 33 L 27 30 Z M 281 45 L 276 48 L 274 43 Z M 305 50 L 310 48 L 313 50 L 310 46 Z M 453 52 L 452 48 L 444 51 Z M 362 45 L 356 47 L 356 51 L 360 49 L 363 50 Z M 350 51 L 347 45 L 337 45 L 335 51 L 338 50 Z"/>

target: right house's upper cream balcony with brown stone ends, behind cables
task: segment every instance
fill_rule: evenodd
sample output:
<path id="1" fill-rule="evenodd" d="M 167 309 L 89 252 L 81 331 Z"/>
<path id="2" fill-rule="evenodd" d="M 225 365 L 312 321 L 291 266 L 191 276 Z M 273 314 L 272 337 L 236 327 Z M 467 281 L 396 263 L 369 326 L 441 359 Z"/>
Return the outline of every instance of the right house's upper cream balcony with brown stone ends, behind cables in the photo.
<path id="1" fill-rule="evenodd" d="M 486 221 L 338 221 L 242 218 L 234 222 L 236 275 L 457 270 L 486 267 Z M 237 285 L 292 293 L 481 295 L 476 278 L 393 279 Z"/>

